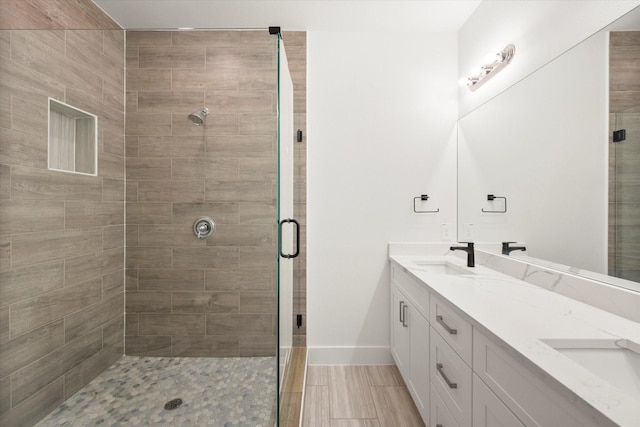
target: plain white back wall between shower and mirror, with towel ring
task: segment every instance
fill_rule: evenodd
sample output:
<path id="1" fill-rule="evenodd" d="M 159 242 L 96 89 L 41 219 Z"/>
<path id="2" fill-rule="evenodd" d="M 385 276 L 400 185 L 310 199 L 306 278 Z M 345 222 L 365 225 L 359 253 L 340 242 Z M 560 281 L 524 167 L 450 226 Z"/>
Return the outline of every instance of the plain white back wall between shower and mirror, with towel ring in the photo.
<path id="1" fill-rule="evenodd" d="M 455 239 L 455 34 L 308 33 L 311 363 L 385 363 L 387 243 Z M 428 194 L 416 215 L 413 197 Z"/>

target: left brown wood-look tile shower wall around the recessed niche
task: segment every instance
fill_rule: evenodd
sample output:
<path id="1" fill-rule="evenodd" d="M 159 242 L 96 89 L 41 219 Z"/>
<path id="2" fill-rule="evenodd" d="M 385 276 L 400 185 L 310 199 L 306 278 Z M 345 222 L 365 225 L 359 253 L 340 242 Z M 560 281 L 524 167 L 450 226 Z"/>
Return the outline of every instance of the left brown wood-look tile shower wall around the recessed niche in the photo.
<path id="1" fill-rule="evenodd" d="M 123 354 L 124 31 L 88 0 L 0 3 L 0 425 Z M 47 169 L 48 97 L 98 116 L 98 176 Z"/>

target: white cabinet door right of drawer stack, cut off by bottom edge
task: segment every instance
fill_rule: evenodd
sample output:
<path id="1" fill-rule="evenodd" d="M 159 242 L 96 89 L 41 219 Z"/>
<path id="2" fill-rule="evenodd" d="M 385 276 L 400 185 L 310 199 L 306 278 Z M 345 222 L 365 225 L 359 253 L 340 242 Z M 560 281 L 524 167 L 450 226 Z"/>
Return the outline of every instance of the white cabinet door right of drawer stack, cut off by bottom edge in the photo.
<path id="1" fill-rule="evenodd" d="M 473 375 L 473 426 L 523 427 L 524 424 L 505 406 L 477 375 Z"/>

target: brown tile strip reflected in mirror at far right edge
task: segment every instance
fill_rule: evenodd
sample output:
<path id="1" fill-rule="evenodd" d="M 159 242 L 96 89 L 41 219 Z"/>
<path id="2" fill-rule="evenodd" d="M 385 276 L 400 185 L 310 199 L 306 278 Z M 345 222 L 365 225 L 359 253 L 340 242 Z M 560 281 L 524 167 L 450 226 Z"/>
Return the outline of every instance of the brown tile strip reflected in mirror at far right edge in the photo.
<path id="1" fill-rule="evenodd" d="M 610 33 L 609 52 L 609 272 L 640 282 L 640 31 Z"/>

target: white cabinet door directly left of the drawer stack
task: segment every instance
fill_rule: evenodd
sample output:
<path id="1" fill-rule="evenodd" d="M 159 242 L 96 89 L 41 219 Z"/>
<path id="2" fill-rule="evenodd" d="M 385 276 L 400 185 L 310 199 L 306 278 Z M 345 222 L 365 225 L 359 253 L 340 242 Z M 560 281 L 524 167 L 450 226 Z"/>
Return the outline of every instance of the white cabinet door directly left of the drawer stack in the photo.
<path id="1" fill-rule="evenodd" d="M 425 423 L 429 421 L 429 322 L 413 306 L 408 308 L 411 341 L 409 391 Z"/>

